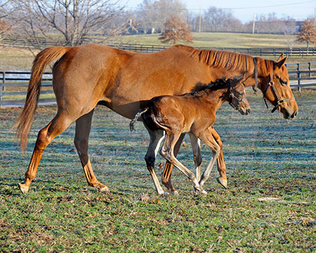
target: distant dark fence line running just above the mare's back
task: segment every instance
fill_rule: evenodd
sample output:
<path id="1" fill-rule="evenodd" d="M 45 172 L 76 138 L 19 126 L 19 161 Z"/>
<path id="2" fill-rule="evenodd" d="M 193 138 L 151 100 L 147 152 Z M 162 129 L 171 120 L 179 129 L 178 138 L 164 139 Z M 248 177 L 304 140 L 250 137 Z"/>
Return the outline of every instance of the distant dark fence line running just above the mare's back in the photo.
<path id="1" fill-rule="evenodd" d="M 91 43 L 91 41 L 83 41 L 84 44 Z M 19 46 L 19 47 L 33 47 L 34 44 L 41 45 L 42 48 L 48 46 L 65 46 L 62 41 L 48 41 L 45 38 L 34 39 L 17 39 L 10 37 L 2 37 L 0 39 L 0 45 L 3 46 Z M 162 51 L 163 49 L 169 48 L 170 46 L 163 45 L 142 45 L 142 44 L 107 44 L 115 48 L 120 48 L 128 51 L 139 52 L 139 53 L 154 53 Z M 206 47 L 199 47 L 199 49 L 206 49 Z M 224 48 L 216 47 L 214 49 L 232 51 L 238 53 L 247 53 L 251 56 L 279 56 L 281 53 L 287 54 L 288 56 L 316 56 L 316 48 Z"/>

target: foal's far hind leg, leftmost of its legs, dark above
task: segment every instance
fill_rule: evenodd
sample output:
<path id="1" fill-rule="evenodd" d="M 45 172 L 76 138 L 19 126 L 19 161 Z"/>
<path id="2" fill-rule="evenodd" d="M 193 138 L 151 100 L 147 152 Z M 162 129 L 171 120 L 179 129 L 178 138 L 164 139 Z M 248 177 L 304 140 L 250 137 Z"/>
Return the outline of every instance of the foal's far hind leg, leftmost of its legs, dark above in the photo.
<path id="1" fill-rule="evenodd" d="M 152 176 L 152 180 L 154 181 L 154 187 L 156 188 L 158 195 L 166 196 L 168 195 L 168 193 L 166 193 L 162 189 L 162 186 L 159 183 L 157 175 L 154 173 L 154 161 L 156 160 L 160 143 L 162 143 L 162 140 L 164 139 L 164 131 L 151 131 L 147 128 L 146 125 L 145 127 L 148 131 L 148 134 L 150 134 L 150 144 L 148 145 L 147 153 L 145 155 L 147 169 L 150 171 L 150 175 Z"/>

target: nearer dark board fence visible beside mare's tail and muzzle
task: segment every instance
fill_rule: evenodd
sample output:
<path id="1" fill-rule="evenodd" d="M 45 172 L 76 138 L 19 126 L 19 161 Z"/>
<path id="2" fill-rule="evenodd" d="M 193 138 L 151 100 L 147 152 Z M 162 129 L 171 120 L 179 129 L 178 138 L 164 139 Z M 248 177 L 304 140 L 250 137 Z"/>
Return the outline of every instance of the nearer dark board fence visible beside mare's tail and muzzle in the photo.
<path id="1" fill-rule="evenodd" d="M 316 87 L 316 62 L 287 64 L 287 70 L 292 89 L 301 91 L 304 87 Z M 0 72 L 0 108 L 24 105 L 26 89 L 19 87 L 28 86 L 30 74 L 30 72 Z M 53 94 L 51 81 L 51 73 L 45 72 L 41 85 L 51 89 L 41 91 L 41 95 Z M 18 98 L 20 96 L 20 99 L 17 99 L 17 96 Z M 10 99 L 12 97 L 13 100 Z M 39 105 L 51 104 L 55 104 L 55 98 L 39 99 Z"/>

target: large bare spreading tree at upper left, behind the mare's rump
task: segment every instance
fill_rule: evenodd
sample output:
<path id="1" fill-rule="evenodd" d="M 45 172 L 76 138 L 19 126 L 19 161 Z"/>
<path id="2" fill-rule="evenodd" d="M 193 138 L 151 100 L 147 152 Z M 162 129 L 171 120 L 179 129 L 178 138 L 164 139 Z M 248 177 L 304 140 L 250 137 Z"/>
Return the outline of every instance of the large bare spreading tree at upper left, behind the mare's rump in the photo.
<path id="1" fill-rule="evenodd" d="M 17 30 L 31 38 L 34 47 L 43 48 L 43 39 L 64 46 L 77 46 L 103 38 L 100 34 L 122 8 L 112 0 L 12 0 Z"/>

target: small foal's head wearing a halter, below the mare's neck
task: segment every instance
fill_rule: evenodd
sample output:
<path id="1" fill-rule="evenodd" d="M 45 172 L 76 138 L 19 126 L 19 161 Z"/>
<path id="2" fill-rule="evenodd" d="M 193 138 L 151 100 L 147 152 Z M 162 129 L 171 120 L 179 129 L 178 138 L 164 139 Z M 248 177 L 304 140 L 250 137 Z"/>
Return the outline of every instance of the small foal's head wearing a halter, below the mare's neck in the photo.
<path id="1" fill-rule="evenodd" d="M 246 98 L 246 93 L 244 91 L 244 84 L 242 84 L 242 78 L 233 77 L 228 79 L 228 92 L 229 100 L 228 102 L 235 110 L 238 110 L 242 115 L 248 115 L 250 112 L 250 105 Z"/>

